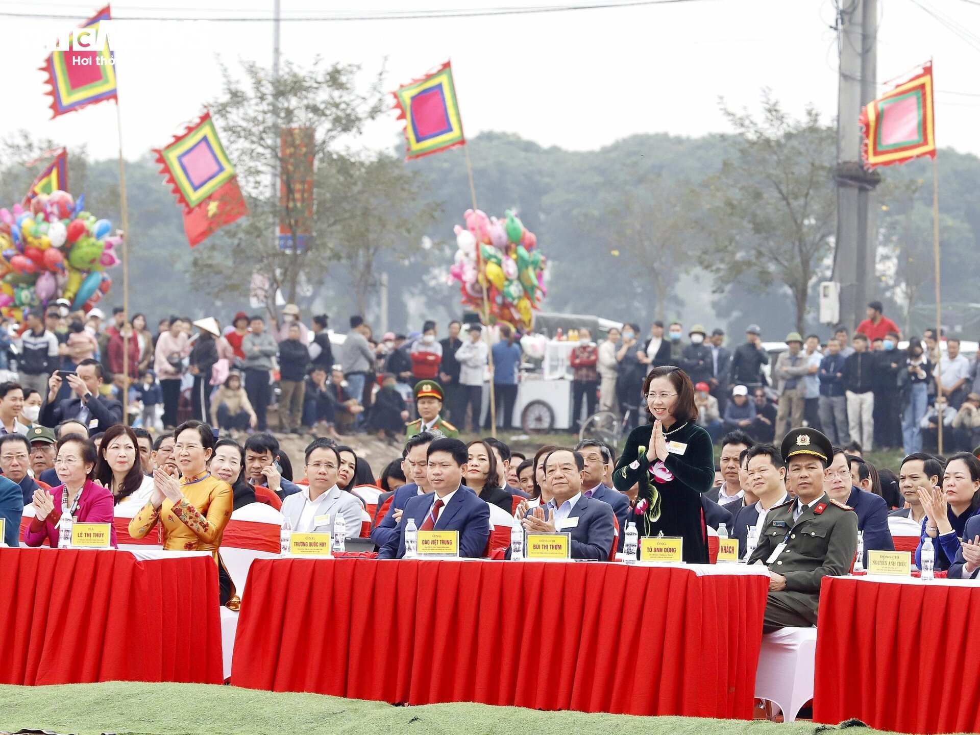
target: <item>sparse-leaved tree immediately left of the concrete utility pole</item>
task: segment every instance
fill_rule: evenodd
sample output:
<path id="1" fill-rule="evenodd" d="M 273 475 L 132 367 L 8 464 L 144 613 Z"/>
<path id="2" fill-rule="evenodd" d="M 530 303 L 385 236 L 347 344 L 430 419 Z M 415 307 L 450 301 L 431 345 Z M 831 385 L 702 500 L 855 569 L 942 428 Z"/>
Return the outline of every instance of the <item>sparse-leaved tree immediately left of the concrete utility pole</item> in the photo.
<path id="1" fill-rule="evenodd" d="M 785 285 L 804 331 L 809 286 L 836 226 L 834 131 L 812 107 L 792 119 L 768 91 L 758 120 L 723 103 L 722 112 L 738 135 L 704 185 L 710 223 L 701 263 L 718 292 L 737 281 Z"/>

